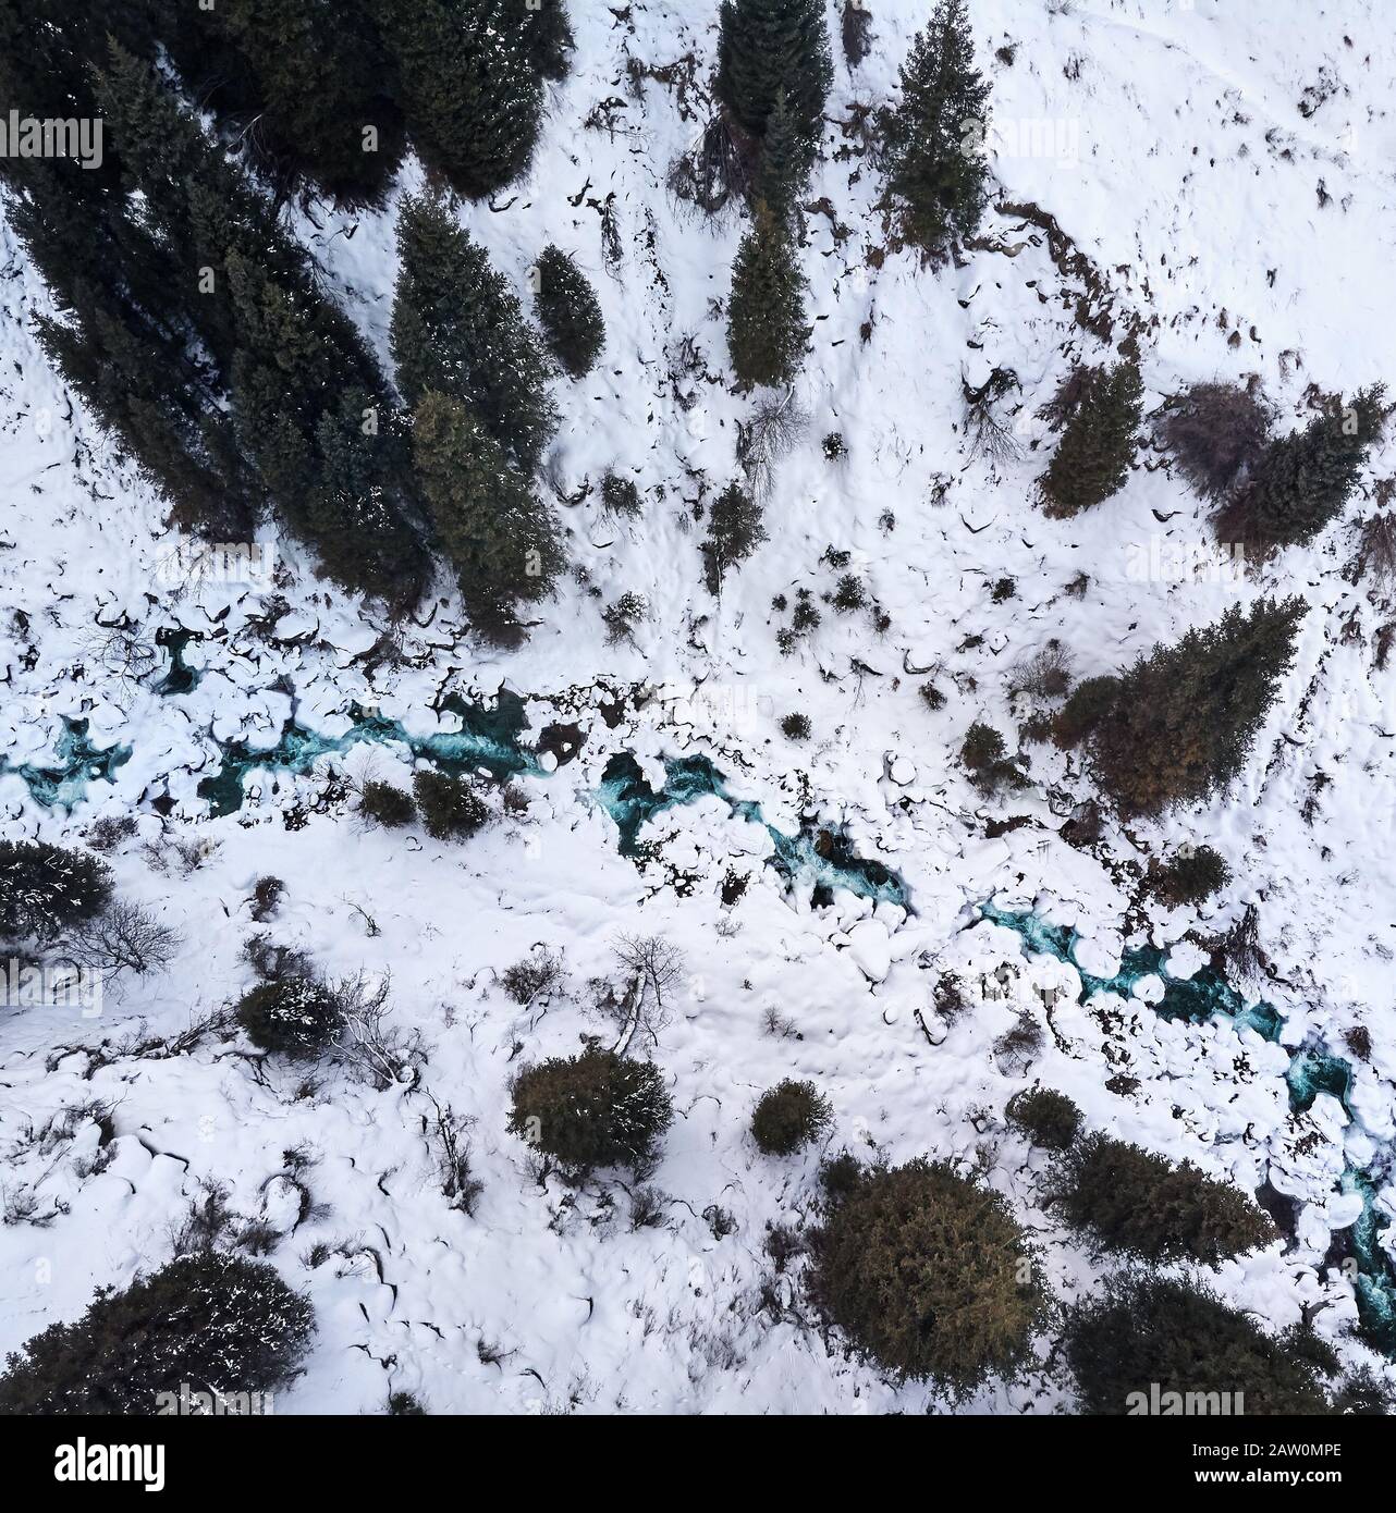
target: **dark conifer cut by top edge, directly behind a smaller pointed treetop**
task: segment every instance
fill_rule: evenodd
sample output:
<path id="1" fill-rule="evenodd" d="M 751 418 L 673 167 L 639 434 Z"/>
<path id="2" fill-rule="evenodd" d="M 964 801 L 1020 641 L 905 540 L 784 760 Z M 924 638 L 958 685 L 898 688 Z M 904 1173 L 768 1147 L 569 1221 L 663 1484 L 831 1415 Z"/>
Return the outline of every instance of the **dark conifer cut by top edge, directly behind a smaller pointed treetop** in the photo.
<path id="1" fill-rule="evenodd" d="M 749 138 L 766 135 L 784 92 L 806 172 L 834 77 L 824 0 L 724 0 L 718 39 L 718 98 Z"/>

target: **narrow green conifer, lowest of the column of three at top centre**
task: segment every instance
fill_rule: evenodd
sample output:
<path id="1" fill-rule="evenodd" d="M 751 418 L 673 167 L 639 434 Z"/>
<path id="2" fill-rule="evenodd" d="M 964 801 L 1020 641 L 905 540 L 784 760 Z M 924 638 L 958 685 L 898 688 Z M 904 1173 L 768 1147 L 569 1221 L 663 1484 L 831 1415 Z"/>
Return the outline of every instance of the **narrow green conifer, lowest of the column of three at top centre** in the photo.
<path id="1" fill-rule="evenodd" d="M 727 350 L 743 384 L 784 384 L 798 372 L 809 336 L 804 289 L 789 225 L 757 204 L 727 301 Z"/>

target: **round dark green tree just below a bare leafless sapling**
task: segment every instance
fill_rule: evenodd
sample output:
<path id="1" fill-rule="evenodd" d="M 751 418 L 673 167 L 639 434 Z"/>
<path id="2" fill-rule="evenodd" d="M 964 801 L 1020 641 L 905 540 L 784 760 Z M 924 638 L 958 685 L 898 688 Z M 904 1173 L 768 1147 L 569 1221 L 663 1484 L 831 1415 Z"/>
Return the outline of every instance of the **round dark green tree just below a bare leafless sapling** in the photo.
<path id="1" fill-rule="evenodd" d="M 589 1045 L 521 1071 L 509 1130 L 577 1173 L 645 1167 L 674 1109 L 659 1068 Z"/>

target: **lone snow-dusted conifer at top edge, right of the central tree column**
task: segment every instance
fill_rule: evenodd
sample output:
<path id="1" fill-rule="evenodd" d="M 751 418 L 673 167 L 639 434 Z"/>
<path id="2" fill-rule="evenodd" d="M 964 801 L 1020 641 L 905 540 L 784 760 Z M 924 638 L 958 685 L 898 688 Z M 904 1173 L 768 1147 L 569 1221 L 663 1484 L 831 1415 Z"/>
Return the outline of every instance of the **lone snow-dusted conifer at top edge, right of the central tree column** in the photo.
<path id="1" fill-rule="evenodd" d="M 949 236 L 972 236 L 984 213 L 987 104 L 964 0 L 940 0 L 911 42 L 886 129 L 887 188 L 901 201 L 902 233 L 928 253 Z"/>

